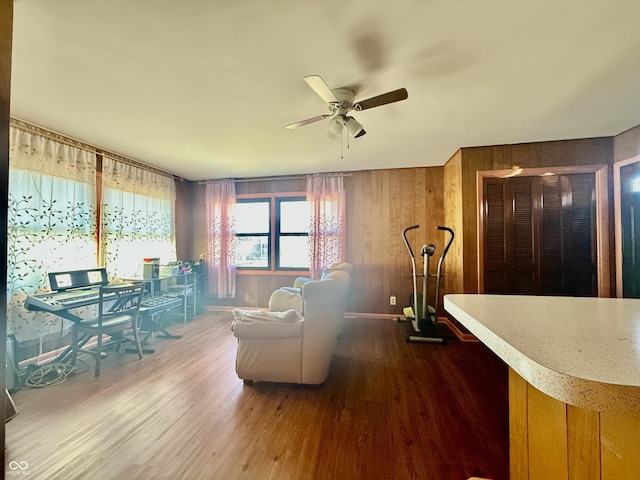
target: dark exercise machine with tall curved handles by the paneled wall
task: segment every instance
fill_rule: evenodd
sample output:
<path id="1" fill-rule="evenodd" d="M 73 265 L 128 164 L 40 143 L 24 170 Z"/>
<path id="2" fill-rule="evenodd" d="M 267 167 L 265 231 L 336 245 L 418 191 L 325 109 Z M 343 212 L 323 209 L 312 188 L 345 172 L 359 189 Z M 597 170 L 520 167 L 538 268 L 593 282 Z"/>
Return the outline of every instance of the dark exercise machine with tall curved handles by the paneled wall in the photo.
<path id="1" fill-rule="evenodd" d="M 411 249 L 411 244 L 407 239 L 407 232 L 420 228 L 420 225 L 411 225 L 404 229 L 402 232 L 402 238 L 404 244 L 409 251 L 411 257 L 411 278 L 413 280 L 413 295 L 411 297 L 411 305 L 404 307 L 403 313 L 405 319 L 411 322 L 413 329 L 417 335 L 410 335 L 407 337 L 407 342 L 420 342 L 420 343 L 440 343 L 444 344 L 445 339 L 435 336 L 437 334 L 438 324 L 438 306 L 440 299 L 440 280 L 442 278 L 442 264 L 447 256 L 447 252 L 453 243 L 454 233 L 449 227 L 436 227 L 436 230 L 444 230 L 449 233 L 449 239 L 447 241 L 442 255 L 438 260 L 438 267 L 436 269 L 436 290 L 434 294 L 433 305 L 429 305 L 429 260 L 435 254 L 436 246 L 433 243 L 423 245 L 420 255 L 423 257 L 423 271 L 419 275 L 416 267 L 416 257 Z M 422 291 L 418 292 L 418 277 L 422 277 Z"/>

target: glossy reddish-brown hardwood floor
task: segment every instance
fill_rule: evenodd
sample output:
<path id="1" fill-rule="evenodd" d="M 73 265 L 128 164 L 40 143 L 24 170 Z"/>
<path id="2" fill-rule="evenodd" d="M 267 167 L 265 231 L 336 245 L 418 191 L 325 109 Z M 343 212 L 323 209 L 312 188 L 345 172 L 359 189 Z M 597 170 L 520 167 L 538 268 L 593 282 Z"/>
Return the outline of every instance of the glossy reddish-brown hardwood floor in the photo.
<path id="1" fill-rule="evenodd" d="M 98 378 L 87 358 L 16 392 L 7 478 L 18 463 L 46 480 L 508 478 L 507 369 L 483 345 L 347 319 L 324 385 L 244 386 L 230 318 L 172 325 L 182 339 L 111 354 Z"/>

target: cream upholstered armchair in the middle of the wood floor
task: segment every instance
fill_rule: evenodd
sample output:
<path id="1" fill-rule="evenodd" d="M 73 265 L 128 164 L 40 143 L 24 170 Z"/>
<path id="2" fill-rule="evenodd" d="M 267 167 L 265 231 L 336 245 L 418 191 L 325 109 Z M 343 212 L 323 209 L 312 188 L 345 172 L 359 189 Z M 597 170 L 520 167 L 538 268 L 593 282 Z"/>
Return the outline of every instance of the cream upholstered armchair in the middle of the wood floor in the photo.
<path id="1" fill-rule="evenodd" d="M 300 290 L 279 289 L 269 301 L 271 311 L 234 310 L 233 334 L 238 338 L 236 373 L 253 381 L 321 384 L 344 317 L 350 275 L 328 272 Z"/>

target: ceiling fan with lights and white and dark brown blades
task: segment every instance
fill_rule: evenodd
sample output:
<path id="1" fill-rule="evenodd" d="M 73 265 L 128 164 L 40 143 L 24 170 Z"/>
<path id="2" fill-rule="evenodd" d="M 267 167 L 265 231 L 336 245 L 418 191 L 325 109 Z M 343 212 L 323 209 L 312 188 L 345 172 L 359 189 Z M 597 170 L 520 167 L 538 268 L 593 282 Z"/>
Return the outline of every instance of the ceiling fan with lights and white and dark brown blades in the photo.
<path id="1" fill-rule="evenodd" d="M 331 90 L 325 81 L 319 75 L 309 75 L 304 77 L 304 81 L 322 98 L 329 106 L 329 113 L 318 115 L 316 117 L 307 118 L 296 123 L 287 125 L 287 128 L 293 129 L 319 122 L 326 118 L 329 119 L 329 129 L 327 134 L 329 137 L 337 140 L 342 134 L 344 128 L 353 138 L 363 136 L 365 133 L 362 125 L 348 113 L 352 110 L 361 111 L 373 107 L 379 107 L 388 103 L 406 100 L 408 97 L 406 88 L 399 88 L 392 92 L 383 93 L 366 100 L 355 101 L 355 92 L 349 88 L 336 88 Z"/>

